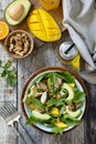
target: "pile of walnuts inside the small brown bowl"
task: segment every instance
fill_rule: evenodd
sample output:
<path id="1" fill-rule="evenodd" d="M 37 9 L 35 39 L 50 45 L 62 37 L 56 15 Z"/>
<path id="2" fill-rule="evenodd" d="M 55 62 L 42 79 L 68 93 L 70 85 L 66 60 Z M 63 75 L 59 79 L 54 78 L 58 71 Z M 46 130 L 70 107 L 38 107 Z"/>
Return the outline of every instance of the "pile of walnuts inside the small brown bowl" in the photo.
<path id="1" fill-rule="evenodd" d="M 25 55 L 30 50 L 30 39 L 25 33 L 17 33 L 9 39 L 9 51 L 19 55 Z"/>

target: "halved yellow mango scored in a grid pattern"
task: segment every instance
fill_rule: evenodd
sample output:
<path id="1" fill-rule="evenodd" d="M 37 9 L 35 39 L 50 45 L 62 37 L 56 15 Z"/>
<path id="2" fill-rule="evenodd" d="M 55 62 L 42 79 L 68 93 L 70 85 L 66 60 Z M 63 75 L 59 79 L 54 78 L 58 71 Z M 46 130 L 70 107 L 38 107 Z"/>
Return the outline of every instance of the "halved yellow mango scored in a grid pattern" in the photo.
<path id="1" fill-rule="evenodd" d="M 61 39 L 61 29 L 54 18 L 43 9 L 30 12 L 26 19 L 30 31 L 40 40 L 53 42 Z"/>

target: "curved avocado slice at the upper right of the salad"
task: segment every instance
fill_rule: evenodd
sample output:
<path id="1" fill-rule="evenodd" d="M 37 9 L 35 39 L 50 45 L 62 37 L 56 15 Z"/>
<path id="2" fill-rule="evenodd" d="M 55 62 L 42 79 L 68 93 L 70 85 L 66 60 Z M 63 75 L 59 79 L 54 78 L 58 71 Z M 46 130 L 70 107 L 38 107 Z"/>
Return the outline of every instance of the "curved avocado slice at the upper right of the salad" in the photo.
<path id="1" fill-rule="evenodd" d="M 63 90 L 63 89 L 67 90 L 67 92 L 68 92 L 68 96 L 66 97 L 66 101 L 73 100 L 73 97 L 74 97 L 74 91 L 73 91 L 73 89 L 70 86 L 70 84 L 63 83 L 62 90 Z"/>

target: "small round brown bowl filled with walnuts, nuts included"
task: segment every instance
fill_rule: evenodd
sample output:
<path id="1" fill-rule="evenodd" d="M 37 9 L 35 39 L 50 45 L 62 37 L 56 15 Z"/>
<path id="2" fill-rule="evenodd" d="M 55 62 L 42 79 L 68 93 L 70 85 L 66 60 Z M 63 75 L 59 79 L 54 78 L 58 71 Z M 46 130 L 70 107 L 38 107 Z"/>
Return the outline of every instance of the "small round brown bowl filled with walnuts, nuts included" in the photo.
<path id="1" fill-rule="evenodd" d="M 14 30 L 4 41 L 7 52 L 14 59 L 23 59 L 33 50 L 33 38 L 24 30 Z"/>

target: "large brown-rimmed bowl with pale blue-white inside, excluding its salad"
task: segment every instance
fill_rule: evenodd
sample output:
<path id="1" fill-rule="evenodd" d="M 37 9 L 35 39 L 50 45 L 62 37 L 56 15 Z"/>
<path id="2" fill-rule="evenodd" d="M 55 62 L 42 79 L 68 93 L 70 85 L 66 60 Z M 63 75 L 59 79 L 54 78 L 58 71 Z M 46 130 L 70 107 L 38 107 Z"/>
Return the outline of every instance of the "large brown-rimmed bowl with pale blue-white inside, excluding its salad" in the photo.
<path id="1" fill-rule="evenodd" d="M 22 106 L 22 111 L 23 111 L 23 114 L 25 115 L 26 120 L 30 117 L 30 115 L 32 115 L 32 111 L 29 105 L 26 103 L 23 103 L 23 100 L 26 97 L 29 91 L 30 91 L 30 88 L 32 88 L 32 85 L 35 83 L 35 81 L 42 76 L 43 74 L 49 74 L 49 73 L 52 73 L 52 72 L 65 72 L 65 73 L 68 73 L 71 74 L 71 76 L 74 76 L 74 81 L 75 81 L 75 84 L 76 84 L 76 88 L 79 90 L 79 92 L 84 92 L 85 93 L 85 97 L 83 100 L 83 103 L 82 103 L 82 106 L 79 107 L 79 110 L 82 111 L 81 115 L 77 117 L 77 121 L 82 121 L 85 113 L 86 113 L 86 107 L 87 107 L 87 97 L 88 97 L 88 93 L 87 93 L 87 90 L 86 90 L 86 86 L 84 84 L 84 82 L 82 81 L 82 79 L 71 72 L 70 70 L 67 69 L 64 69 L 64 68 L 58 68 L 58 66 L 52 66 L 52 68 L 43 68 L 36 72 L 34 72 L 29 79 L 28 81 L 25 82 L 23 89 L 22 89 L 22 94 L 21 94 L 21 106 Z M 66 74 L 67 75 L 67 74 Z M 66 76 L 66 79 L 68 80 L 70 78 Z M 66 82 L 66 80 L 65 80 Z M 70 81 L 68 81 L 70 83 Z M 72 82 L 71 82 L 72 83 Z M 73 85 L 73 84 L 72 84 Z M 75 89 L 75 88 L 74 88 Z M 53 96 L 53 95 L 52 95 Z M 58 100 L 58 99 L 57 99 Z M 66 112 L 65 112 L 66 113 Z M 73 119 L 72 119 L 73 120 Z M 75 120 L 75 119 L 74 119 Z M 72 123 L 72 122 L 71 122 Z M 44 131 L 44 132 L 49 132 L 49 133 L 54 133 L 53 128 L 54 126 L 47 126 L 45 123 L 42 123 L 40 121 L 38 122 L 34 122 L 32 125 L 36 126 L 38 128 Z M 74 127 L 76 127 L 78 124 L 76 125 L 68 125 L 67 127 L 63 128 L 63 132 L 67 132 L 70 130 L 73 130 Z"/>

